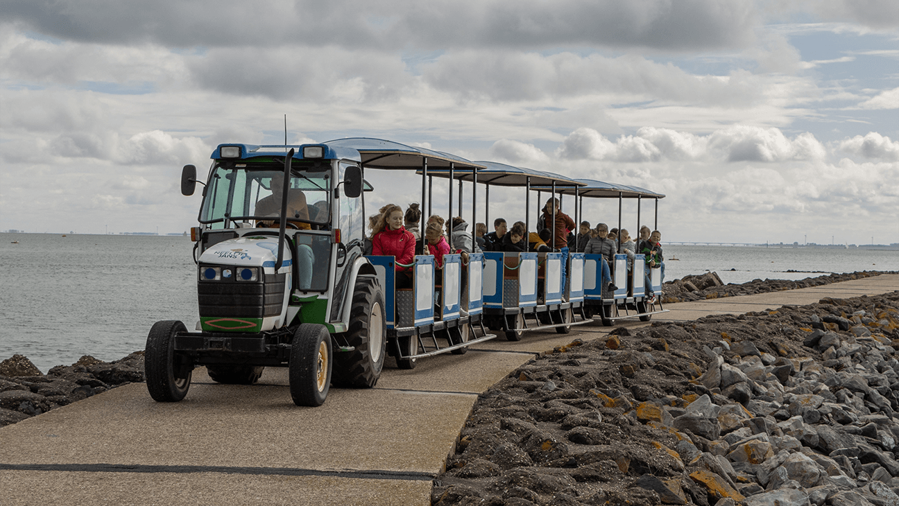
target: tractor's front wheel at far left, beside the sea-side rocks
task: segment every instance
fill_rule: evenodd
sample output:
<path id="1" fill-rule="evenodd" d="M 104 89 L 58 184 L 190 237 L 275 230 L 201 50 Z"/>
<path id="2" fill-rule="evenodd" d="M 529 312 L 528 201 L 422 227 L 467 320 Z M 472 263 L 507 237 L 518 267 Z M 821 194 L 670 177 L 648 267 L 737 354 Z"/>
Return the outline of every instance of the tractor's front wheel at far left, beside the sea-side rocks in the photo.
<path id="1" fill-rule="evenodd" d="M 191 387 L 193 364 L 189 358 L 174 352 L 174 334 L 179 332 L 187 332 L 184 324 L 165 320 L 153 324 L 147 335 L 144 374 L 147 390 L 156 402 L 180 401 Z"/>

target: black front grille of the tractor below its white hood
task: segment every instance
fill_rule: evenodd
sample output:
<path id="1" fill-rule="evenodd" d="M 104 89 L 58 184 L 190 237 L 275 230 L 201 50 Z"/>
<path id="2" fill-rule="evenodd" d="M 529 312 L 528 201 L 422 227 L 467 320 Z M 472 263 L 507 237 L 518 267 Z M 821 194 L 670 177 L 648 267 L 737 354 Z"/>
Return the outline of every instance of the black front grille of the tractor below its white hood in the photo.
<path id="1" fill-rule="evenodd" d="M 265 274 L 263 282 L 199 281 L 200 316 L 264 318 L 280 315 L 286 274 Z"/>

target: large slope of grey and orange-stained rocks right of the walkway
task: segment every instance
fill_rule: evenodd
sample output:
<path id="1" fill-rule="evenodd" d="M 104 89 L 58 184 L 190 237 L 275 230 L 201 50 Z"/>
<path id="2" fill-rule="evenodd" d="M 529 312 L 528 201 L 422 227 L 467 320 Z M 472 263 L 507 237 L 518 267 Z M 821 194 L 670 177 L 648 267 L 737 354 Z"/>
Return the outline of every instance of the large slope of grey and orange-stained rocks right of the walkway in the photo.
<path id="1" fill-rule="evenodd" d="M 616 329 L 480 396 L 432 504 L 899 505 L 899 292 Z"/>

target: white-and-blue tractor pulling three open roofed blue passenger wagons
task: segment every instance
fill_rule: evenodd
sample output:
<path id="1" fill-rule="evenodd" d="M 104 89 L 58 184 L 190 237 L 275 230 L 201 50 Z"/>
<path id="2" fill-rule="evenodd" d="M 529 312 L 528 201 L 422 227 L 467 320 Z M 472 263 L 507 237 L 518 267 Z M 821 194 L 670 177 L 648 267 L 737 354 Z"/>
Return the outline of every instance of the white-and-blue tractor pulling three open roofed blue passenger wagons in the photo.
<path id="1" fill-rule="evenodd" d="M 568 333 L 574 325 L 646 321 L 665 311 L 661 271 L 645 270 L 642 254 L 633 255 L 629 270 L 623 253 L 604 266 L 600 254 L 565 254 L 566 244 L 556 244 L 556 235 L 539 252 L 462 253 L 450 230 L 450 251 L 440 266 L 431 254 L 403 262 L 364 254 L 366 217 L 378 211 L 367 207 L 366 194 L 395 191 L 373 188 L 367 171 L 420 177 L 421 209 L 429 211 L 434 178 L 447 179 L 447 217 L 470 216 L 472 224 L 481 185 L 485 223 L 495 186 L 520 189 L 526 209 L 534 191 L 538 208 L 543 195 L 574 196 L 575 224 L 584 198 L 618 199 L 619 227 L 623 199 L 637 200 L 638 225 L 639 202 L 654 200 L 657 220 L 664 196 L 653 191 L 472 162 L 374 138 L 301 146 L 223 144 L 211 158 L 203 180 L 194 165 L 182 171 L 184 195 L 203 185 L 200 226 L 191 228 L 200 321 L 192 332 L 171 320 L 151 329 L 147 388 L 157 401 L 181 400 L 197 366 L 218 382 L 243 384 L 254 383 L 264 367 L 280 366 L 289 368 L 294 403 L 319 405 L 332 384 L 374 386 L 387 355 L 399 368 L 414 368 L 417 360 L 461 354 L 498 335 L 518 341 L 530 331 Z M 462 182 L 472 183 L 470 214 L 462 209 Z M 407 200 L 415 199 L 397 203 Z M 422 214 L 420 226 L 424 253 L 430 214 Z M 530 212 L 525 215 L 527 231 Z M 474 236 L 472 231 L 471 244 Z M 609 268 L 611 287 L 602 281 Z"/>

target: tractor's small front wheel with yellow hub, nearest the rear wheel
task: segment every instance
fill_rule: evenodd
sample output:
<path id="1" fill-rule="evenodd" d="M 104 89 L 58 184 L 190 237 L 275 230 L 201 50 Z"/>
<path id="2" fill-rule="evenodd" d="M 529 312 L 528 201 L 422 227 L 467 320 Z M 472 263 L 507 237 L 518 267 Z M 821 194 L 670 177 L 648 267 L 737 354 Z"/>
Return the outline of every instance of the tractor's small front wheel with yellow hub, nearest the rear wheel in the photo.
<path id="1" fill-rule="evenodd" d="M 290 397 L 298 406 L 320 406 L 331 387 L 331 334 L 320 324 L 301 324 L 290 344 Z"/>

